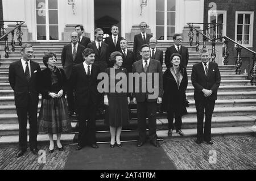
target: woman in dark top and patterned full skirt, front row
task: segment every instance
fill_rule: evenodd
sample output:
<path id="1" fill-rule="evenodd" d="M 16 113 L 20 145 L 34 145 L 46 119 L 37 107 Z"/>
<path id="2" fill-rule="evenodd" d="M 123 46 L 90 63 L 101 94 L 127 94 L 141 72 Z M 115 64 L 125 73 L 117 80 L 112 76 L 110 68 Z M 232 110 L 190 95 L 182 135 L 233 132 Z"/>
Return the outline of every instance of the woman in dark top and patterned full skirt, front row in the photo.
<path id="1" fill-rule="evenodd" d="M 56 54 L 44 54 L 46 69 L 39 74 L 38 90 L 42 94 L 42 104 L 38 116 L 38 131 L 48 133 L 49 153 L 54 150 L 53 134 L 57 134 L 57 148 L 63 151 L 60 143 L 61 133 L 71 132 L 65 90 L 67 78 L 63 69 L 55 66 Z"/>

